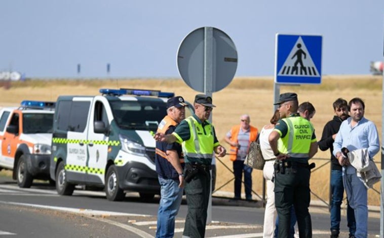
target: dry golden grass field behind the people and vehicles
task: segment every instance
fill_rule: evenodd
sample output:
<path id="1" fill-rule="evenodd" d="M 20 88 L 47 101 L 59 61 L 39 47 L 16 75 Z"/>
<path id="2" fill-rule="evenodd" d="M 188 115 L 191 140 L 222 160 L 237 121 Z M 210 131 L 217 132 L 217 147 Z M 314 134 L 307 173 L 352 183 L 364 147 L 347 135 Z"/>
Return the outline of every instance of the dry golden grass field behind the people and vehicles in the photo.
<path id="1" fill-rule="evenodd" d="M 347 101 L 353 97 L 361 97 L 365 101 L 365 117 L 372 120 L 380 135 L 381 143 L 381 76 L 324 76 L 320 85 L 281 86 L 280 92 L 293 91 L 298 94 L 299 102 L 310 101 L 316 108 L 316 115 L 312 122 L 320 140 L 323 127 L 333 117 L 332 103 L 338 97 Z M 223 138 L 231 126 L 240 123 L 240 115 L 249 114 L 251 124 L 261 129 L 267 124 L 273 113 L 273 77 L 235 78 L 231 84 L 219 92 L 213 93 L 213 103 L 217 106 L 213 110 L 213 124 L 217 137 L 222 145 L 229 149 Z M 10 87 L 0 88 L 0 107 L 16 106 L 21 100 L 56 100 L 59 95 L 96 95 L 99 88 L 140 88 L 160 89 L 175 92 L 186 100 L 193 102 L 198 92 L 190 89 L 181 79 L 84 79 L 84 80 L 27 80 L 12 82 Z M 314 161 L 317 167 L 327 163 L 329 151 L 319 151 Z M 317 160 L 323 158 L 323 160 Z M 228 157 L 220 159 L 232 168 Z M 380 162 L 380 152 L 375 156 Z M 216 188 L 233 178 L 219 161 L 217 164 Z M 377 166 L 380 168 L 380 164 Z M 313 172 L 311 189 L 321 199 L 328 201 L 330 165 Z M 374 186 L 380 190 L 380 183 Z M 227 184 L 221 191 L 233 191 L 233 182 Z M 262 173 L 253 172 L 253 190 L 262 194 Z M 370 189 L 368 193 L 369 205 L 379 205 L 379 194 Z M 318 200 L 312 196 L 313 200 Z"/>

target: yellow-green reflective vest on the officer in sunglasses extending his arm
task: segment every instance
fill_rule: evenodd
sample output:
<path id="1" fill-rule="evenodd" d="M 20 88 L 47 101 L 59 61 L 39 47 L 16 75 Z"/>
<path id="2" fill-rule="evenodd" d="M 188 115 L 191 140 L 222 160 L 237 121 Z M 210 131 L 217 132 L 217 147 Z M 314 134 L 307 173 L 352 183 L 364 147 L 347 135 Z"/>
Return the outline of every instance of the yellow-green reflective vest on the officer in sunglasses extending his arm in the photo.
<path id="1" fill-rule="evenodd" d="M 207 123 L 204 128 L 193 116 L 185 119 L 189 125 L 190 137 L 183 141 L 182 148 L 187 158 L 198 158 L 201 160 L 212 159 L 214 135 L 213 127 Z M 205 131 L 205 133 L 204 133 Z"/>

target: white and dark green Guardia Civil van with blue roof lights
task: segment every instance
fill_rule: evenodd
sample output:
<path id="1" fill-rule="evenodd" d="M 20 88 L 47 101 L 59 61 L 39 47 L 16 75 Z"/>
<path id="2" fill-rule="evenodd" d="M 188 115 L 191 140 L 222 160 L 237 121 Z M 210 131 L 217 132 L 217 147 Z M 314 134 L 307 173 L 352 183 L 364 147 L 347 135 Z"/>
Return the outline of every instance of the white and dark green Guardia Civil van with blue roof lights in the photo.
<path id="1" fill-rule="evenodd" d="M 100 93 L 57 99 L 50 175 L 58 194 L 71 195 L 76 185 L 104 188 L 113 201 L 122 200 L 128 190 L 144 199 L 160 194 L 153 134 L 174 93 L 141 89 L 100 89 Z"/>

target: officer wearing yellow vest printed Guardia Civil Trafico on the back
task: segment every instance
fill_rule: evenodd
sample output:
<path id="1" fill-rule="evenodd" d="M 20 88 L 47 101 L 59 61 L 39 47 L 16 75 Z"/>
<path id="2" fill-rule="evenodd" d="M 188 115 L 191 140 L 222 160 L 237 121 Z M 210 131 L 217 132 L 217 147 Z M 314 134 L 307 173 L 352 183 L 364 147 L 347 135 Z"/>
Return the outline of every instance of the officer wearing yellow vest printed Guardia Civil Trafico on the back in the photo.
<path id="1" fill-rule="evenodd" d="M 299 237 L 312 237 L 310 206 L 310 166 L 308 160 L 317 152 L 315 129 L 297 113 L 297 94 L 280 94 L 280 119 L 268 138 L 276 156 L 275 206 L 279 216 L 279 238 L 288 237 L 290 213 L 295 208 Z M 278 143 L 279 141 L 279 143 Z"/>

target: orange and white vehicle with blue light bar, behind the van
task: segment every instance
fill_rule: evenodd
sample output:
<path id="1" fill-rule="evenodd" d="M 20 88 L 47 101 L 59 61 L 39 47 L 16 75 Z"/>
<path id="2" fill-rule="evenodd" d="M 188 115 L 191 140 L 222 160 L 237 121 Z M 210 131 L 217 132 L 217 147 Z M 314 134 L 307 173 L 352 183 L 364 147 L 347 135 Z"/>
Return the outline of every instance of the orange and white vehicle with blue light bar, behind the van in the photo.
<path id="1" fill-rule="evenodd" d="M 19 187 L 49 180 L 55 103 L 24 100 L 0 111 L 0 170 L 11 169 Z"/>

